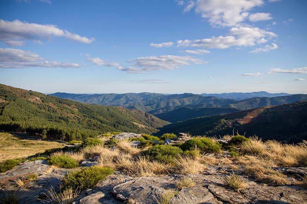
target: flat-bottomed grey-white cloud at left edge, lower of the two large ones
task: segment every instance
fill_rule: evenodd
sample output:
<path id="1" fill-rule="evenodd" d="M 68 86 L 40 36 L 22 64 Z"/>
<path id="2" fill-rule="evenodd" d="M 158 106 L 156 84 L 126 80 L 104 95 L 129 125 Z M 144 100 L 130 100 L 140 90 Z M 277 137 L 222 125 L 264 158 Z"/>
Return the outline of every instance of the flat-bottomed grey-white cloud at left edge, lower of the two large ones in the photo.
<path id="1" fill-rule="evenodd" d="M 0 48 L 0 68 L 60 67 L 77 68 L 76 63 L 49 62 L 38 54 L 21 49 Z"/>

